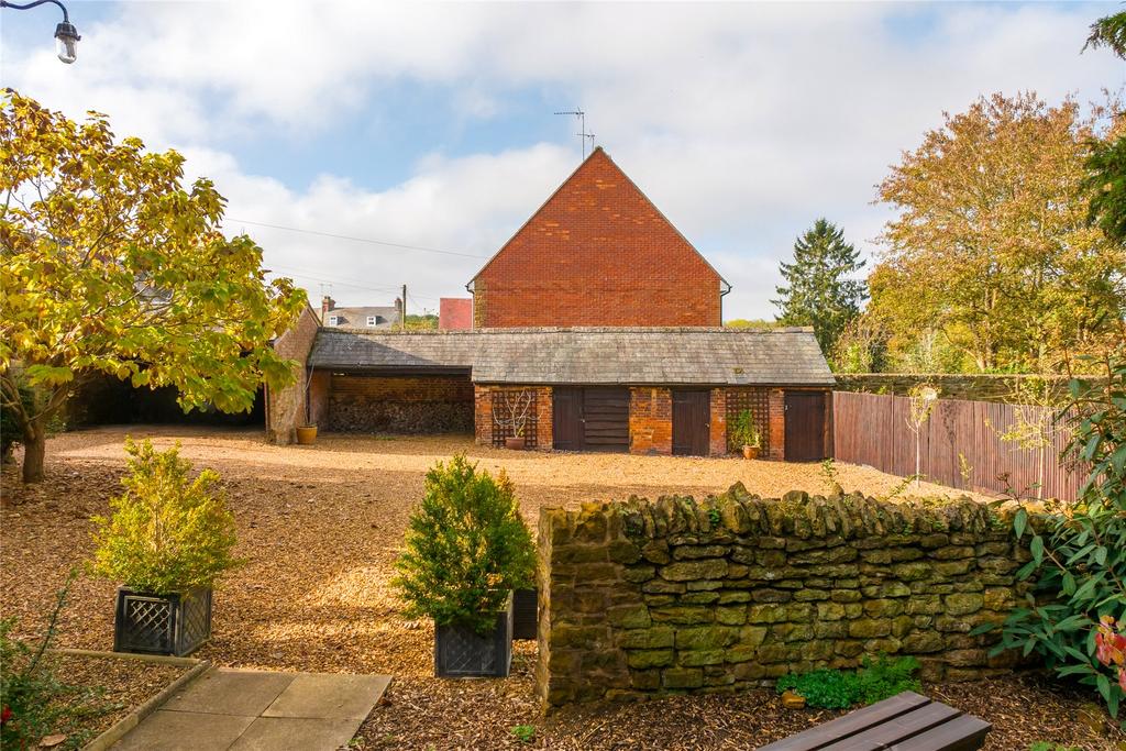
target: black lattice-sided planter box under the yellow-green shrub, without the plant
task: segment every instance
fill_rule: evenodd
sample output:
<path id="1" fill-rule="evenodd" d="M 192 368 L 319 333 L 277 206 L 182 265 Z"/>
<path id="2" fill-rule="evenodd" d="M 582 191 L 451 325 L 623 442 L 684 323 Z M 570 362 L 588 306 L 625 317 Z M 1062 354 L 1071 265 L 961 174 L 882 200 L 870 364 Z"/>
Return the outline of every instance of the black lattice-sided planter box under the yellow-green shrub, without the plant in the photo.
<path id="1" fill-rule="evenodd" d="M 191 654 L 211 637 L 211 589 L 152 594 L 117 588 L 114 652 Z"/>

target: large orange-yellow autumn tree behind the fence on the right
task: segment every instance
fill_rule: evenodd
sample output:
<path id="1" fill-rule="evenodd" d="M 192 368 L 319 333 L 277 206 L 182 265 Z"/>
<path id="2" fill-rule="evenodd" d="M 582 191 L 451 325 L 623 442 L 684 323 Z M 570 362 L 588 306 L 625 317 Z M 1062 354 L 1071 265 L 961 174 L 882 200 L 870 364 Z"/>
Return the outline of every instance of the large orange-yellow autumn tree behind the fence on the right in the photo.
<path id="1" fill-rule="evenodd" d="M 903 154 L 879 186 L 897 216 L 869 277 L 893 352 L 937 334 L 967 369 L 1046 372 L 1118 336 L 1126 247 L 1088 221 L 1084 186 L 1108 111 L 994 95 Z"/>

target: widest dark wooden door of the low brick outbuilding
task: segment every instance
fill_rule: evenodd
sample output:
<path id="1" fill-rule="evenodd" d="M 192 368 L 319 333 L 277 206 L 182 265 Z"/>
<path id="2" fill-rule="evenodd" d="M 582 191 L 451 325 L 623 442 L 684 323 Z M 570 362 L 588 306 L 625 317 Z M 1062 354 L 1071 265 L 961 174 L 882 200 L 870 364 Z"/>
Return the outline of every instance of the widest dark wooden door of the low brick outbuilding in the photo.
<path id="1" fill-rule="evenodd" d="M 552 432 L 561 450 L 628 452 L 629 390 L 556 387 Z"/>

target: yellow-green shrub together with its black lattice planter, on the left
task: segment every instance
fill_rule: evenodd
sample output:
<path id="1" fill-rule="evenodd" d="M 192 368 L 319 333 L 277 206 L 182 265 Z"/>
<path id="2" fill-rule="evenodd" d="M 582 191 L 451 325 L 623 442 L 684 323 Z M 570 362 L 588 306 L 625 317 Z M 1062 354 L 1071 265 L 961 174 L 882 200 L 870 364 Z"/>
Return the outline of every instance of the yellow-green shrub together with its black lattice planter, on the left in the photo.
<path id="1" fill-rule="evenodd" d="M 114 651 L 184 656 L 211 637 L 212 587 L 236 564 L 234 517 L 218 474 L 193 480 L 179 444 L 157 452 L 127 439 L 125 450 L 125 492 L 109 518 L 93 519 L 93 572 L 122 583 Z"/>

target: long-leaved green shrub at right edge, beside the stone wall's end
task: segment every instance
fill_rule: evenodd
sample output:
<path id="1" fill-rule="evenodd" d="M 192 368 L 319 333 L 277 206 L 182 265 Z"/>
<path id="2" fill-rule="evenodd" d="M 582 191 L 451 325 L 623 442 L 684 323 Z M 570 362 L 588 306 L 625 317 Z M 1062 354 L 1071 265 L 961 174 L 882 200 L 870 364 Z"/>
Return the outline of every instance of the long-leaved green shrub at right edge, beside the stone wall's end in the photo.
<path id="1" fill-rule="evenodd" d="M 1096 634 L 1103 616 L 1126 620 L 1126 348 L 1101 368 L 1097 379 L 1071 381 L 1060 417 L 1073 426 L 1065 458 L 1090 467 L 1079 501 L 1048 503 L 1035 526 L 1024 508 L 1013 517 L 1033 558 L 1017 573 L 1036 584 L 1004 622 L 994 653 L 1040 654 L 1058 676 L 1091 686 L 1117 717 L 1126 691 L 1116 669 L 1099 661 Z"/>

